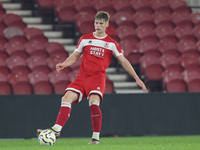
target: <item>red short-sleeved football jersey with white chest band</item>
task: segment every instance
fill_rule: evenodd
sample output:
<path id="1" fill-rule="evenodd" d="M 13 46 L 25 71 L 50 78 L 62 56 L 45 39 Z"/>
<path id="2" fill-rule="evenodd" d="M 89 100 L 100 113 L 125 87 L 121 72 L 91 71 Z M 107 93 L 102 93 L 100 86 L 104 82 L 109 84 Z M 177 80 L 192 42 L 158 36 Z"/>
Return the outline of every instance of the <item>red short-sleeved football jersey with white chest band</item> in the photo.
<path id="1" fill-rule="evenodd" d="M 106 74 L 112 56 L 122 55 L 122 51 L 115 40 L 106 35 L 98 38 L 94 33 L 83 35 L 75 51 L 82 53 L 79 76 Z"/>

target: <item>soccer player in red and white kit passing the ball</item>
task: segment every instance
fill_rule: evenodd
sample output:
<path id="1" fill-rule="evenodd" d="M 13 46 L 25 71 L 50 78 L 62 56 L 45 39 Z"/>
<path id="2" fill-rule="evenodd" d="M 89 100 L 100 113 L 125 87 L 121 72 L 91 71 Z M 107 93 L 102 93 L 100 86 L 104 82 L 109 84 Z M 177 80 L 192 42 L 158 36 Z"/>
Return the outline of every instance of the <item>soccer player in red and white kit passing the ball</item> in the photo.
<path id="1" fill-rule="evenodd" d="M 137 76 L 129 61 L 123 56 L 116 41 L 106 34 L 109 25 L 109 14 L 100 11 L 94 20 L 95 32 L 83 35 L 75 51 L 64 62 L 56 65 L 56 70 L 61 72 L 65 67 L 71 66 L 82 55 L 82 62 L 77 78 L 67 87 L 61 100 L 61 107 L 55 125 L 51 128 L 56 136 L 70 117 L 71 104 L 79 103 L 84 97 L 89 101 L 91 121 L 93 127 L 92 140 L 88 144 L 99 144 L 99 135 L 102 124 L 100 103 L 103 100 L 106 82 L 106 69 L 114 55 L 123 68 L 136 80 L 137 84 L 147 91 L 146 86 Z M 38 129 L 38 133 L 42 130 Z"/>

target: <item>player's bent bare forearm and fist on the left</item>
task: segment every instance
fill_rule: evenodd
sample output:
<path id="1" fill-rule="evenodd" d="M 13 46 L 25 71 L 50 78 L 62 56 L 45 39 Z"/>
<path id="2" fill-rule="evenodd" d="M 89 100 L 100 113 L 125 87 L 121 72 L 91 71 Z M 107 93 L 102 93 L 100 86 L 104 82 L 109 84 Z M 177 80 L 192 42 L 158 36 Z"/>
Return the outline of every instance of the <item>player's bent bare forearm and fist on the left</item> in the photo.
<path id="1" fill-rule="evenodd" d="M 69 56 L 64 62 L 58 63 L 56 65 L 56 70 L 60 72 L 62 69 L 71 66 L 81 57 L 81 54 L 81 52 L 74 51 L 72 55 Z"/>

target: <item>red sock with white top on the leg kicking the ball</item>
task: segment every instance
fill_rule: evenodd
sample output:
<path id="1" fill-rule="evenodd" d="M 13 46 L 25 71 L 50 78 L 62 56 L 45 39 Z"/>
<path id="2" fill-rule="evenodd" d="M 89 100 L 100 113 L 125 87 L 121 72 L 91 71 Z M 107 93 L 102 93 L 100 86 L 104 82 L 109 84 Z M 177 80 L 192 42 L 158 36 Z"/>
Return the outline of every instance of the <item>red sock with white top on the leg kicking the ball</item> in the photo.
<path id="1" fill-rule="evenodd" d="M 56 124 L 64 126 L 66 121 L 69 119 L 71 113 L 71 104 L 62 102 L 59 114 L 57 116 Z"/>

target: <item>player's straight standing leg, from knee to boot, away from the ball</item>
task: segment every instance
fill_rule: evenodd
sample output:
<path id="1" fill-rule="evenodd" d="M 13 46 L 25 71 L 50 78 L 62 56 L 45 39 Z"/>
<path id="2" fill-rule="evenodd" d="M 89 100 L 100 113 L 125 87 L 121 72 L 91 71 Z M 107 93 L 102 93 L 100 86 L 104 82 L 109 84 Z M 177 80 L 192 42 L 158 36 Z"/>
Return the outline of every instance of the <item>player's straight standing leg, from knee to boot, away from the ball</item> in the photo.
<path id="1" fill-rule="evenodd" d="M 102 124 L 102 113 L 100 110 L 100 96 L 98 94 L 91 94 L 89 96 L 89 107 L 91 111 L 91 121 L 93 127 L 92 140 L 88 144 L 99 144 L 99 135 Z"/>

